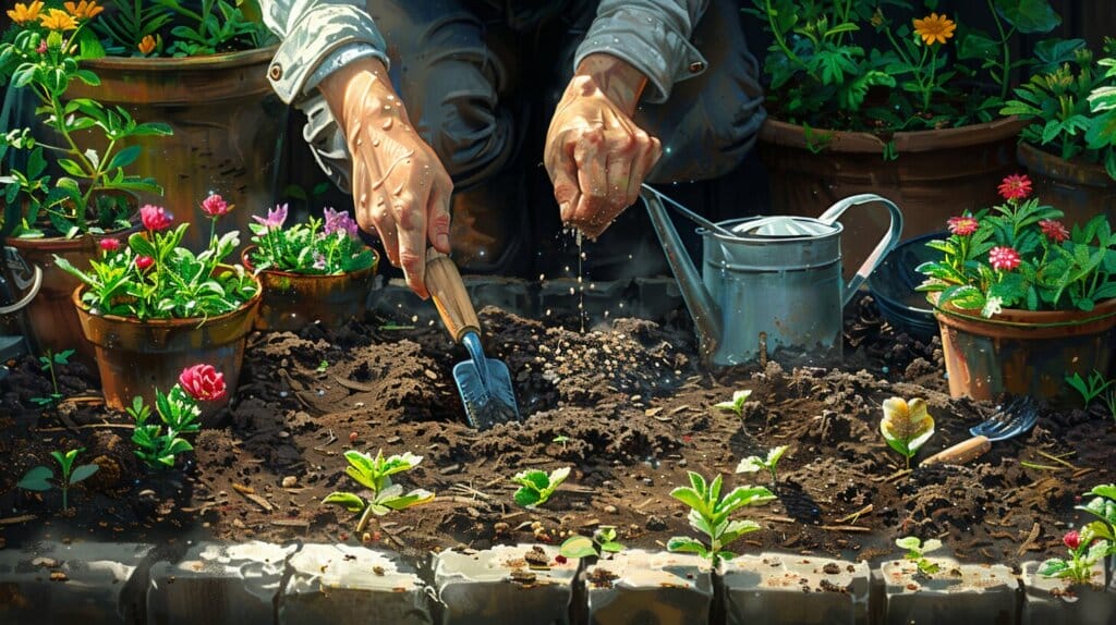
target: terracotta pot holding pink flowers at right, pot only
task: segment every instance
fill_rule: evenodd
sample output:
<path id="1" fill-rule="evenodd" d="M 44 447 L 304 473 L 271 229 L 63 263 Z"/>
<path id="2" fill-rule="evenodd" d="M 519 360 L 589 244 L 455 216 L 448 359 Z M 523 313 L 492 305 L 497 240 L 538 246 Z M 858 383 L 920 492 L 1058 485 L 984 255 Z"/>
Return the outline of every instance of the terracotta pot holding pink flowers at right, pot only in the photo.
<path id="1" fill-rule="evenodd" d="M 991 319 L 946 304 L 934 316 L 953 397 L 1009 392 L 1067 404 L 1080 401 L 1067 375 L 1112 378 L 1116 299 L 1089 312 L 1004 310 Z"/>

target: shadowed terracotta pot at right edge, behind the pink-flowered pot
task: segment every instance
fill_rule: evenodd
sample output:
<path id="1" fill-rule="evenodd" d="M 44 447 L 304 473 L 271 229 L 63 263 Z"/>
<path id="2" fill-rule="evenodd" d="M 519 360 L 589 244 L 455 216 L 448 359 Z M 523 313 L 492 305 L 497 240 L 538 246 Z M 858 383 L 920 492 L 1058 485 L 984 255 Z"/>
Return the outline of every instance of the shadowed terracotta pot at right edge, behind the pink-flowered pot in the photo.
<path id="1" fill-rule="evenodd" d="M 1085 225 L 1097 215 L 1116 222 L 1116 180 L 1104 167 L 1066 160 L 1024 143 L 1016 154 L 1030 173 L 1035 196 L 1066 213 L 1066 223 Z"/>

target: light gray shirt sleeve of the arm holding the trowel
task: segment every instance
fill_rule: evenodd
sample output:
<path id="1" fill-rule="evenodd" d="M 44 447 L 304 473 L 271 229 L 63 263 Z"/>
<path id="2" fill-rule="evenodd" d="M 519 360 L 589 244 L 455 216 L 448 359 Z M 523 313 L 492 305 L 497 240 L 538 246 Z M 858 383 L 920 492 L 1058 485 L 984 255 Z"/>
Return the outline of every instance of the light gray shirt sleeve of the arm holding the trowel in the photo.
<path id="1" fill-rule="evenodd" d="M 285 102 L 309 95 L 329 72 L 362 57 L 387 65 L 387 46 L 363 0 L 260 0 L 263 22 L 282 40 L 268 77 Z"/>

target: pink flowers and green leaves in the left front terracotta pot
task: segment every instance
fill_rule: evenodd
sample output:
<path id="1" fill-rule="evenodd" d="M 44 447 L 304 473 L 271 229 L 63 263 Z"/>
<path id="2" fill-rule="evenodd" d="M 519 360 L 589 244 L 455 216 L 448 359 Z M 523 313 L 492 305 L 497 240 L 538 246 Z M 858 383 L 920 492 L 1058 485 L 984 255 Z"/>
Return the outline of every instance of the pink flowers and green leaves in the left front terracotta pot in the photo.
<path id="1" fill-rule="evenodd" d="M 210 243 L 199 254 L 179 245 L 190 224 L 175 225 L 166 208 L 146 205 L 140 209 L 143 230 L 126 241 L 103 240 L 100 257 L 89 262 L 88 271 L 59 256 L 55 261 L 85 283 L 81 303 L 95 314 L 143 320 L 204 319 L 232 312 L 248 303 L 259 285 L 244 267 L 222 262 L 240 245 L 235 231 L 215 234 L 217 222 L 230 205 L 217 194 L 203 206 L 206 203 Z"/>

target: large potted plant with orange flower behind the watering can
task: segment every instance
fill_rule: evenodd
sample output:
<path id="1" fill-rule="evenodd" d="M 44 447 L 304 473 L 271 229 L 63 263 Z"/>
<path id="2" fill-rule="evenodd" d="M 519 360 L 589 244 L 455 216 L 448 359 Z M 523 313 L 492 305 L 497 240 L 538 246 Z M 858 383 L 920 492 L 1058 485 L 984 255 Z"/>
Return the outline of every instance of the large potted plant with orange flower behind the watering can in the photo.
<path id="1" fill-rule="evenodd" d="M 1023 125 L 999 115 L 1023 62 L 1010 51 L 1017 35 L 1049 32 L 1060 19 L 1046 0 L 990 1 L 989 35 L 935 6 L 752 0 L 745 12 L 772 39 L 758 152 L 775 214 L 812 217 L 875 193 L 902 207 L 906 233 L 918 235 L 934 232 L 943 211 L 994 201 L 995 180 L 1016 168 Z M 854 235 L 846 254 L 867 257 L 886 219 L 843 219 Z"/>

